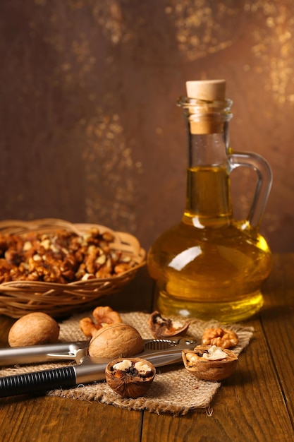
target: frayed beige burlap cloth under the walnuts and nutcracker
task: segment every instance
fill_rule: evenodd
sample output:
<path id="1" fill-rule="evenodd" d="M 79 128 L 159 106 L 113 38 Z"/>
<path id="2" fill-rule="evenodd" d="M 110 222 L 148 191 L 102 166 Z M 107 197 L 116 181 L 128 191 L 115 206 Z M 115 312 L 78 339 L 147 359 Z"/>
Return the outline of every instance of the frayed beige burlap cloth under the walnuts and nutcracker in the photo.
<path id="1" fill-rule="evenodd" d="M 79 328 L 80 318 L 91 316 L 92 312 L 75 315 L 60 323 L 59 340 L 63 342 L 85 340 Z M 153 338 L 148 327 L 149 314 L 142 312 L 121 313 L 124 323 L 133 325 L 142 335 L 142 338 Z M 183 321 L 183 319 L 182 319 Z M 204 322 L 192 319 L 188 335 L 190 338 L 199 340 L 205 328 L 216 327 L 221 323 L 216 321 Z M 227 324 L 226 328 L 238 333 L 239 344 L 234 347 L 233 352 L 240 354 L 250 342 L 253 329 L 239 324 Z M 73 362 L 75 364 L 75 362 Z M 29 366 L 15 366 L 4 369 L 0 376 L 25 373 L 27 371 L 39 371 L 44 369 L 63 366 L 59 364 L 42 364 Z M 68 365 L 68 363 L 66 364 Z M 80 385 L 71 389 L 52 390 L 47 394 L 59 396 L 60 398 L 72 398 L 78 400 L 97 400 L 104 404 L 116 405 L 128 410 L 148 410 L 149 412 L 170 412 L 173 415 L 186 414 L 190 410 L 209 408 L 212 398 L 221 386 L 219 382 L 200 381 L 190 374 L 182 364 L 174 364 L 157 368 L 157 375 L 152 386 L 144 398 L 128 399 L 121 398 L 114 393 L 106 382 L 92 383 L 91 385 Z"/>

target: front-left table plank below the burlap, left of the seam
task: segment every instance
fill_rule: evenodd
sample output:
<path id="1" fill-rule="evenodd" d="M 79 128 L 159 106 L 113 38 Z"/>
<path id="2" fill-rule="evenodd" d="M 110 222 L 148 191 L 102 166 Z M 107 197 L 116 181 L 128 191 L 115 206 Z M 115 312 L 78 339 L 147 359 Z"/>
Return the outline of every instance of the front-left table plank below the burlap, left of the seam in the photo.
<path id="1" fill-rule="evenodd" d="M 3 441 L 140 441 L 142 412 L 97 402 L 8 398 L 0 412 Z"/>

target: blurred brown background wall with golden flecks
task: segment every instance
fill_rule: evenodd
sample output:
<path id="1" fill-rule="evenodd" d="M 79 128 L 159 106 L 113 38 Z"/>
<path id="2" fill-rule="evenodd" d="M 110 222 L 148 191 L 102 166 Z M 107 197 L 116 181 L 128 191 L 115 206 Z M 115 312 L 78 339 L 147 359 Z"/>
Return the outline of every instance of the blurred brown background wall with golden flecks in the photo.
<path id="1" fill-rule="evenodd" d="M 271 165 L 262 222 L 294 251 L 293 0 L 1 0 L 0 219 L 60 217 L 148 248 L 185 203 L 185 81 L 225 78 L 231 145 Z M 233 172 L 236 217 L 252 174 Z"/>

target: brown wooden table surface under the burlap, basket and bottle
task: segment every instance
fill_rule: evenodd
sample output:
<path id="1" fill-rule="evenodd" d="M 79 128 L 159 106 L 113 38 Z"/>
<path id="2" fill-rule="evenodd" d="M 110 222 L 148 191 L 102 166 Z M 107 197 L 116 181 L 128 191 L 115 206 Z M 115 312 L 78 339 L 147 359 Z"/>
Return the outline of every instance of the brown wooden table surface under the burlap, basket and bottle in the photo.
<path id="1" fill-rule="evenodd" d="M 152 287 L 144 268 L 104 305 L 151 311 Z M 209 410 L 173 417 L 46 396 L 6 398 L 0 400 L 1 440 L 294 441 L 294 253 L 274 256 L 264 297 L 262 311 L 245 323 L 255 328 L 254 339 Z M 0 321 L 3 347 L 13 321 L 5 317 Z"/>

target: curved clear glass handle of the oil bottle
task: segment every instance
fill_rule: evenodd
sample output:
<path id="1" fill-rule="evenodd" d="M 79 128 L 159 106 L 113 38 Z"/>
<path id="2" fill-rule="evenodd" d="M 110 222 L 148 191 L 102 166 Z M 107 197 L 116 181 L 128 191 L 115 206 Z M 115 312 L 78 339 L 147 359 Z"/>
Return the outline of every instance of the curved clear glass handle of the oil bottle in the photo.
<path id="1" fill-rule="evenodd" d="M 262 222 L 262 215 L 264 208 L 269 198 L 271 190 L 272 173 L 271 167 L 264 157 L 251 152 L 238 152 L 228 155 L 231 165 L 231 171 L 237 167 L 245 166 L 252 167 L 257 173 L 257 186 L 255 189 L 255 196 L 252 201 L 250 212 L 247 217 L 252 228 L 258 229 Z"/>

